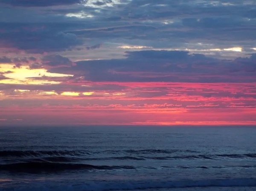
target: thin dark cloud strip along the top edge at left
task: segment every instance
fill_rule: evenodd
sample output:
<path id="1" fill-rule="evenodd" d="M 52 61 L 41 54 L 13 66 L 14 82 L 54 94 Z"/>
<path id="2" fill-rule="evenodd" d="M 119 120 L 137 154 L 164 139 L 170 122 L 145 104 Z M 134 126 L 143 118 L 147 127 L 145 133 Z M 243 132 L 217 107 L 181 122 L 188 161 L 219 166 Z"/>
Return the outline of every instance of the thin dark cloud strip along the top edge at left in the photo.
<path id="1" fill-rule="evenodd" d="M 72 5 L 82 0 L 1 0 L 0 3 L 21 7 L 46 7 L 59 5 Z"/>

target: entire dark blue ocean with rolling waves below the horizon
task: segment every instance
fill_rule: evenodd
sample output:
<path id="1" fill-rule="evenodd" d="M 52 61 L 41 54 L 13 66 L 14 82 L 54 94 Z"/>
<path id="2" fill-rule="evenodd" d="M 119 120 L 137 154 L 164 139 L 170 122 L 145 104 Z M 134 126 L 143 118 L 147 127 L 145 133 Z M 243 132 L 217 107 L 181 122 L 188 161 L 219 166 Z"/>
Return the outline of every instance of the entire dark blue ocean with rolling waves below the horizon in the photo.
<path id="1" fill-rule="evenodd" d="M 0 191 L 256 191 L 256 127 L 0 127 Z"/>

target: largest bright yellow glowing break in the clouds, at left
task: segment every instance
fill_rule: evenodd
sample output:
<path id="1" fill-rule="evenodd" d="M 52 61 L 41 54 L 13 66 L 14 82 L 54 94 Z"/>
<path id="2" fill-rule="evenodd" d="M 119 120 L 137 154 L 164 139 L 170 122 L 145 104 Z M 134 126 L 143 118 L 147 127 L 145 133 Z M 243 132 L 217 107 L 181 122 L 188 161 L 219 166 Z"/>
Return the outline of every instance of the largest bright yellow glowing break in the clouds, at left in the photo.
<path id="1" fill-rule="evenodd" d="M 1 80 L 1 83 L 10 83 L 10 84 L 44 84 L 44 83 L 51 83 L 51 84 L 58 84 L 61 82 L 55 81 L 48 81 L 48 80 L 33 80 L 29 79 L 30 77 L 68 77 L 73 75 L 68 74 L 55 74 L 49 73 L 46 69 L 34 69 L 29 70 L 27 66 L 21 66 L 20 68 L 13 68 L 13 64 L 0 64 L 0 71 L 12 71 L 12 73 L 4 74 L 6 77 L 11 79 Z"/>

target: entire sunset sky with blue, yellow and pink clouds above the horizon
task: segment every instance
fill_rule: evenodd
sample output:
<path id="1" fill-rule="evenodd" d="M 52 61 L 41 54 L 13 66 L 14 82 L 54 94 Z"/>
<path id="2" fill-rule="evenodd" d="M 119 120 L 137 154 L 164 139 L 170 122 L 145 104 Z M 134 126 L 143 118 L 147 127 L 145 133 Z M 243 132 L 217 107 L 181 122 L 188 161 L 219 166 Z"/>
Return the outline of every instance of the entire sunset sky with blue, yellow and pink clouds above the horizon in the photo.
<path id="1" fill-rule="evenodd" d="M 0 125 L 256 125 L 255 0 L 1 0 Z"/>

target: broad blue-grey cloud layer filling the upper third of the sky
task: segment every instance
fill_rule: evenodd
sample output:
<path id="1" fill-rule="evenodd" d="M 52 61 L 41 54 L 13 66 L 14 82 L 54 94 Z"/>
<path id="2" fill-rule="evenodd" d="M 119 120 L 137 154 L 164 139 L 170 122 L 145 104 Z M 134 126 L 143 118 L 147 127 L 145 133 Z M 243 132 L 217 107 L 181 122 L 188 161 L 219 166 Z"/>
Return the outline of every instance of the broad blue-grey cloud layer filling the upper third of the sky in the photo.
<path id="1" fill-rule="evenodd" d="M 80 46 L 86 40 L 95 44 L 123 40 L 154 48 L 201 48 L 195 44 L 205 43 L 212 44 L 211 48 L 241 46 L 248 52 L 255 46 L 256 4 L 250 1 L 120 2 L 122 4 L 114 4 L 111 0 L 89 0 L 84 2 L 85 6 L 36 7 L 26 8 L 27 11 L 15 7 L 15 15 L 3 8 L 0 18 L 6 17 L 9 22 L 0 23 L 6 31 L 0 35 L 0 40 L 29 53 L 81 50 Z M 67 14 L 73 14 L 73 17 L 67 17 Z M 85 50 L 93 48 L 85 47 Z"/>

